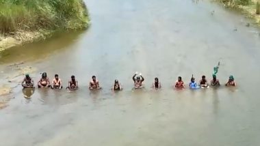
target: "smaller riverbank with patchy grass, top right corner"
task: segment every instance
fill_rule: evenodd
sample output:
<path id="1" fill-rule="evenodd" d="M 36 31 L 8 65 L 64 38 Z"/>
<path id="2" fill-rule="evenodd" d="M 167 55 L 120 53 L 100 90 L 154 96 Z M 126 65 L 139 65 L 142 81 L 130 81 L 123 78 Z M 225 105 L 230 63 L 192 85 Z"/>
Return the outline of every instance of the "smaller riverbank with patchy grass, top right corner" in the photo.
<path id="1" fill-rule="evenodd" d="M 244 3 L 236 3 L 236 2 L 230 2 L 230 1 L 222 1 L 218 0 L 222 5 L 224 5 L 225 8 L 235 8 L 242 12 L 242 14 L 245 14 L 248 16 L 248 18 L 252 18 L 252 20 L 255 21 L 255 24 L 260 26 L 260 14 L 257 14 L 257 1 L 258 0 L 251 0 L 246 1 Z M 259 1 L 260 4 L 260 1 Z"/>

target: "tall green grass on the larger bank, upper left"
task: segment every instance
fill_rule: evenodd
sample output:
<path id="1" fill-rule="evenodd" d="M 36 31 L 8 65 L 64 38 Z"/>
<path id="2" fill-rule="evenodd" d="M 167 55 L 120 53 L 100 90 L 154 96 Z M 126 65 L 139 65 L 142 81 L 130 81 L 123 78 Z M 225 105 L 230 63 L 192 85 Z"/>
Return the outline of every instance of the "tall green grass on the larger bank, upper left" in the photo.
<path id="1" fill-rule="evenodd" d="M 88 12 L 82 0 L 0 0 L 0 32 L 83 29 Z"/>

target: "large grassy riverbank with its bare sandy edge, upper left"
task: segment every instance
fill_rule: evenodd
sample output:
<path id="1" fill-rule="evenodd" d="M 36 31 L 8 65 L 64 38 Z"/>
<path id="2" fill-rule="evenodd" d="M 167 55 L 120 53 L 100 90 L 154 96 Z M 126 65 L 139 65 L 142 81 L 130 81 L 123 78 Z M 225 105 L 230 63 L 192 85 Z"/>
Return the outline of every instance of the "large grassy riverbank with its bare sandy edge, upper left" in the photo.
<path id="1" fill-rule="evenodd" d="M 0 52 L 49 38 L 55 31 L 86 29 L 89 24 L 82 0 L 0 1 Z"/>

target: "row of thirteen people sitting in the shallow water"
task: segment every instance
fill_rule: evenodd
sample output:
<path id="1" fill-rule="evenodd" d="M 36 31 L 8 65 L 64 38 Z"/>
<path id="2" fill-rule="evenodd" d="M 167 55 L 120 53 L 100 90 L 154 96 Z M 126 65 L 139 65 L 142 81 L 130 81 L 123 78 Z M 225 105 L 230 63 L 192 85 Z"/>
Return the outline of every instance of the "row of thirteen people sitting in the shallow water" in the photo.
<path id="1" fill-rule="evenodd" d="M 133 75 L 133 82 L 134 82 L 135 89 L 143 88 L 144 77 L 142 76 L 142 74 L 138 74 L 138 72 L 136 72 Z M 42 78 L 40 78 L 40 81 L 38 81 L 37 85 L 39 88 L 51 87 L 52 89 L 62 89 L 62 80 L 59 78 L 58 74 L 55 74 L 55 78 L 53 78 L 53 81 L 50 82 L 49 78 L 47 77 L 47 73 L 44 72 L 42 73 Z M 215 74 L 213 74 L 213 78 L 210 82 L 210 85 L 213 87 L 220 86 L 220 81 L 218 81 Z M 25 88 L 34 87 L 34 81 L 31 79 L 29 74 L 25 74 L 25 78 L 23 79 L 22 86 Z M 236 86 L 235 79 L 233 76 L 229 76 L 229 81 L 227 81 L 226 86 Z M 174 87 L 177 89 L 185 88 L 185 84 L 182 81 L 181 76 L 178 77 L 178 80 L 174 84 Z M 205 88 L 205 87 L 209 87 L 209 83 L 207 82 L 206 76 L 202 76 L 199 83 L 196 83 L 195 78 L 192 76 L 191 81 L 189 83 L 189 87 L 192 89 L 198 89 L 200 87 Z M 78 82 L 75 76 L 71 76 L 70 81 L 68 81 L 68 87 L 66 87 L 66 89 L 77 90 L 78 88 L 79 88 Z M 161 83 L 159 82 L 159 78 L 155 78 L 155 81 L 153 82 L 153 88 L 155 89 L 161 88 Z M 96 79 L 96 76 L 92 76 L 89 89 L 101 89 L 101 87 L 99 86 L 99 81 Z M 122 90 L 122 85 L 119 83 L 118 80 L 114 81 L 112 90 Z"/>

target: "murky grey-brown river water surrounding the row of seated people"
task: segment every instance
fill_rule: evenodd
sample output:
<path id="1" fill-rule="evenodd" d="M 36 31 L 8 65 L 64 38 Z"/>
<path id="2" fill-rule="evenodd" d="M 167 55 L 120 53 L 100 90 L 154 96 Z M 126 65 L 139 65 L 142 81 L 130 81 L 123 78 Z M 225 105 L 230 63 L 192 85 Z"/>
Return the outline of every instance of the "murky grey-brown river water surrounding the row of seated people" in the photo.
<path id="1" fill-rule="evenodd" d="M 259 145 L 260 38 L 248 20 L 207 1 L 86 2 L 88 31 L 1 54 L 0 68 L 23 61 L 36 68 L 36 81 L 40 72 L 57 73 L 65 84 L 74 74 L 80 87 L 36 89 L 30 99 L 15 88 L 0 111 L 3 145 Z M 192 74 L 211 79 L 218 61 L 220 83 L 233 74 L 238 87 L 171 88 L 177 76 L 186 84 Z M 131 90 L 135 71 L 145 78 L 143 91 Z M 92 75 L 101 91 L 88 90 Z M 160 91 L 150 89 L 156 76 Z M 115 78 L 124 87 L 119 93 L 109 90 Z"/>

